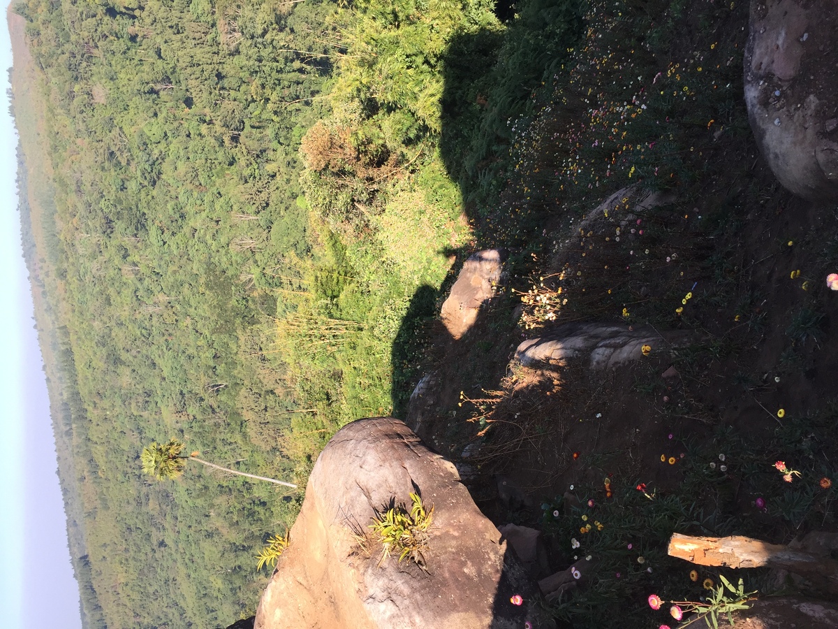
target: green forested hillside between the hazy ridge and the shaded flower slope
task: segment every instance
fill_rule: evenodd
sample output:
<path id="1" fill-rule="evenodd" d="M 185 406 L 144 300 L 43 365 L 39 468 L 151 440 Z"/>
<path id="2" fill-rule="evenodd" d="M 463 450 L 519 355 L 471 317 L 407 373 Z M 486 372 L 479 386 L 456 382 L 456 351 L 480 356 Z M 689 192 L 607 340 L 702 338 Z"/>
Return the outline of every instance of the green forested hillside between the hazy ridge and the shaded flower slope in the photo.
<path id="1" fill-rule="evenodd" d="M 252 613 L 254 556 L 319 449 L 409 395 L 510 121 L 581 28 L 570 6 L 16 5 L 41 93 L 27 115 L 49 138 L 49 164 L 27 155 L 54 185 L 31 265 L 57 330 L 88 626 Z M 142 447 L 171 437 L 301 490 L 143 478 Z"/>

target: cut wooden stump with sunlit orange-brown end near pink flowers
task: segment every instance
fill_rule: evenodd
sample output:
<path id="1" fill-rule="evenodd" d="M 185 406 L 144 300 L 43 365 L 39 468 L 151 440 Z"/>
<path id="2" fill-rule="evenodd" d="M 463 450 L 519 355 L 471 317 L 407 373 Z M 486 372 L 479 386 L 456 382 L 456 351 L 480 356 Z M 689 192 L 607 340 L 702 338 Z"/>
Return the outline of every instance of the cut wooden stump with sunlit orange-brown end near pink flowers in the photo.
<path id="1" fill-rule="evenodd" d="M 806 553 L 782 544 L 732 535 L 727 538 L 691 537 L 674 533 L 670 556 L 699 565 L 728 568 L 769 566 L 800 574 L 830 593 L 838 594 L 838 562 L 829 556 Z"/>

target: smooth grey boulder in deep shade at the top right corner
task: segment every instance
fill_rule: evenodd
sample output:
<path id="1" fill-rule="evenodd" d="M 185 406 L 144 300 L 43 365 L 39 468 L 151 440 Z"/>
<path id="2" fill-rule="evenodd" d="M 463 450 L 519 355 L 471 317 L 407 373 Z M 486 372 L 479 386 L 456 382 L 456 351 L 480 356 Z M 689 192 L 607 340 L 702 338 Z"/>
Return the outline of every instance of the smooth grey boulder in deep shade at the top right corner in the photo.
<path id="1" fill-rule="evenodd" d="M 838 200 L 838 3 L 753 0 L 745 102 L 760 153 L 787 189 Z"/>

